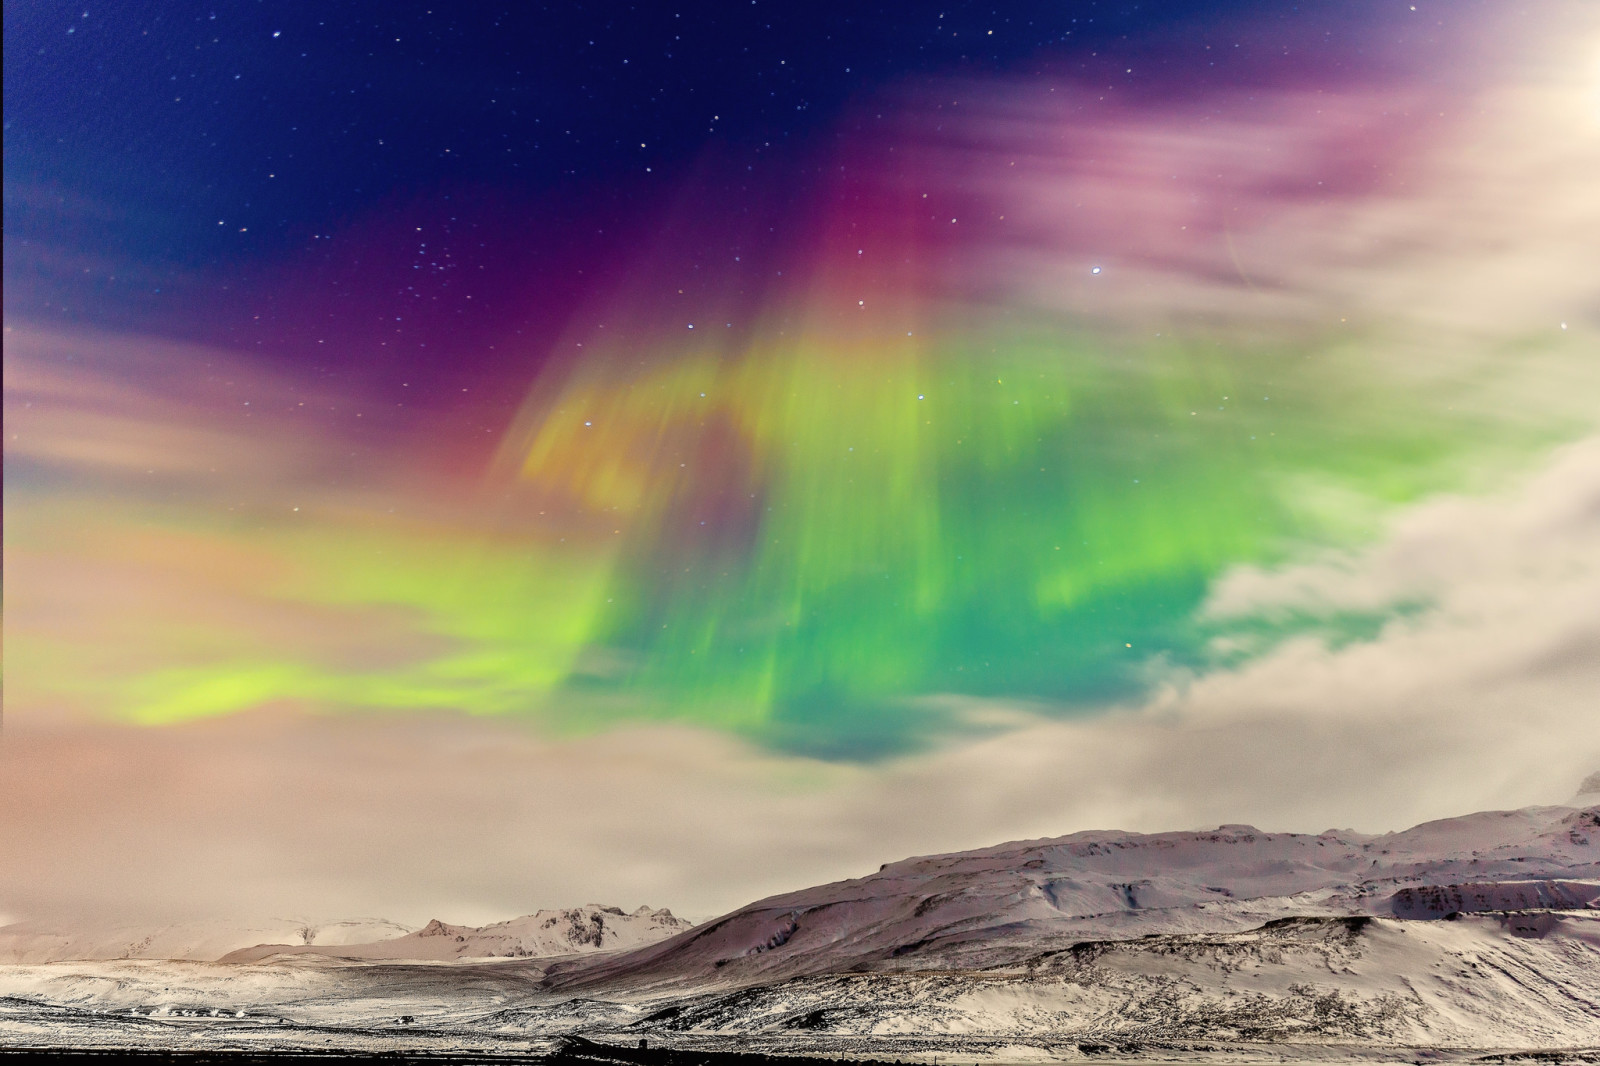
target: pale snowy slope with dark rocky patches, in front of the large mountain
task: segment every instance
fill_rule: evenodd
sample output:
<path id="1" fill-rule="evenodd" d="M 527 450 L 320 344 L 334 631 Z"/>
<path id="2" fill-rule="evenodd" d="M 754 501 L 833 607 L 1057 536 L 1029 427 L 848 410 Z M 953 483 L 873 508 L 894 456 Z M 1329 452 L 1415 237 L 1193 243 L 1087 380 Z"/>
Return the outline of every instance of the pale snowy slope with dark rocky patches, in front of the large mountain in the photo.
<path id="1" fill-rule="evenodd" d="M 837 1053 L 1008 1042 L 1123 1052 L 1234 1045 L 1574 1047 L 1600 1034 L 1600 914 L 1542 932 L 1285 919 L 1242 933 L 1088 941 L 1016 970 L 794 978 L 667 1007 L 629 1032 L 805 1040 Z"/>

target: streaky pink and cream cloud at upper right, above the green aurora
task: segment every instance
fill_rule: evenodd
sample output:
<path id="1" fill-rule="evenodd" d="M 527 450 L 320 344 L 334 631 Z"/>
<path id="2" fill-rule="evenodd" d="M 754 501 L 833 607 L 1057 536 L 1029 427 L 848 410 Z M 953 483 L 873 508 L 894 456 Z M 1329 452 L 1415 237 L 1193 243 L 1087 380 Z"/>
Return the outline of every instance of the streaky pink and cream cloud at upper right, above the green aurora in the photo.
<path id="1" fill-rule="evenodd" d="M 1474 85 L 1171 107 L 1066 82 L 962 86 L 965 118 L 941 114 L 928 150 L 1003 218 L 984 230 L 987 254 L 963 259 L 966 282 L 1077 322 L 1378 328 L 1406 362 L 1453 371 L 1504 357 L 1462 343 L 1549 338 L 1562 322 L 1592 344 L 1600 21 L 1571 5 L 1544 14 L 1499 27 L 1467 64 Z"/>

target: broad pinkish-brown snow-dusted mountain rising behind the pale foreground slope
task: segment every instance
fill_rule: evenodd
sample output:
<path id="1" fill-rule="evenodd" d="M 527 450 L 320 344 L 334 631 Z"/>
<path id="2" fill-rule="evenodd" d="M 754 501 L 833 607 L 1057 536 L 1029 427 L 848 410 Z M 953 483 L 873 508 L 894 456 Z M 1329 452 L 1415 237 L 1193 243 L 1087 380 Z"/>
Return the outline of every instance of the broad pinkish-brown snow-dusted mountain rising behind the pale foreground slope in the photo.
<path id="1" fill-rule="evenodd" d="M 976 970 L 1086 940 L 1235 932 L 1294 916 L 1587 908 L 1597 898 L 1597 807 L 1485 812 L 1382 836 L 1078 832 L 890 863 L 651 948 L 557 965 L 547 981 L 645 991 Z"/>

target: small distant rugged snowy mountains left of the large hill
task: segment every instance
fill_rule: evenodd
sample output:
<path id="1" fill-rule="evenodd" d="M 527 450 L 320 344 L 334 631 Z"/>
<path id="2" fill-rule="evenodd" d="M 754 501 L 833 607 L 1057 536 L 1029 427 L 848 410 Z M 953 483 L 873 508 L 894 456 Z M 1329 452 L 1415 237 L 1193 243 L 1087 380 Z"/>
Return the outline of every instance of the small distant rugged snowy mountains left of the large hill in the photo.
<path id="1" fill-rule="evenodd" d="M 526 959 L 587 954 L 640 948 L 690 928 L 690 922 L 662 908 L 638 908 L 632 914 L 621 908 L 587 903 L 565 911 L 538 911 L 494 925 L 446 925 L 434 919 L 405 936 L 376 943 L 326 946 L 254 944 L 234 951 L 221 962 L 256 962 L 272 956 L 318 954 L 339 959 L 454 962 L 458 959 Z"/>

